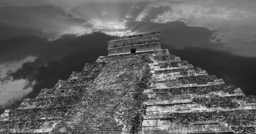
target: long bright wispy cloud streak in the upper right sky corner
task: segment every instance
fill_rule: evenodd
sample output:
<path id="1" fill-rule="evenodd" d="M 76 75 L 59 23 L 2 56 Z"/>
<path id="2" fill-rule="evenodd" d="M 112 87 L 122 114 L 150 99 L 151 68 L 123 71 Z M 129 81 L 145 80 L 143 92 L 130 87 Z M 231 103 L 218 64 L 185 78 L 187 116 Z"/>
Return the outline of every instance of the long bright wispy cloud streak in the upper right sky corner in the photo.
<path id="1" fill-rule="evenodd" d="M 173 4 L 173 3 L 158 3 L 154 7 L 165 6 L 170 7 L 169 11 L 159 14 L 152 22 L 166 23 L 175 20 L 187 20 L 190 17 L 197 19 L 216 18 L 223 20 L 239 20 L 250 16 L 256 16 L 255 13 L 250 13 L 246 10 L 228 9 L 227 7 L 205 7 L 194 4 Z"/>

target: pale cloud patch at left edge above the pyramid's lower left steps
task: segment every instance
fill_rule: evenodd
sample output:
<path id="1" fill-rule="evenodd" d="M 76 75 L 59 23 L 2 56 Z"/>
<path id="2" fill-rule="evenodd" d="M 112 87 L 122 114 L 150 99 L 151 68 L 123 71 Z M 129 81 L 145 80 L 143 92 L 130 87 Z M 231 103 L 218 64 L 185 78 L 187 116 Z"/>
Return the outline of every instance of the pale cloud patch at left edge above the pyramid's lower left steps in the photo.
<path id="1" fill-rule="evenodd" d="M 35 62 L 37 57 L 28 56 L 21 61 L 7 62 L 0 64 L 0 108 L 5 108 L 21 100 L 25 95 L 31 92 L 34 82 L 29 82 L 26 79 L 14 80 L 10 75 L 17 72 L 18 69 L 27 62 Z"/>

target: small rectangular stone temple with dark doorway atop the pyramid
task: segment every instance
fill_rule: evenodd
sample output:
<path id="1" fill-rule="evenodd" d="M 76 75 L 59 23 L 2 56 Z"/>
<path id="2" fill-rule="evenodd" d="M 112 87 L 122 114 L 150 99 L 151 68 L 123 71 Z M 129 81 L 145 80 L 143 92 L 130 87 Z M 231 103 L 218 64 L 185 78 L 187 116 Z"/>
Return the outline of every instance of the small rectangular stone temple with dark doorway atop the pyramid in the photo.
<path id="1" fill-rule="evenodd" d="M 148 52 L 161 49 L 160 33 L 143 33 L 108 40 L 108 55 Z"/>

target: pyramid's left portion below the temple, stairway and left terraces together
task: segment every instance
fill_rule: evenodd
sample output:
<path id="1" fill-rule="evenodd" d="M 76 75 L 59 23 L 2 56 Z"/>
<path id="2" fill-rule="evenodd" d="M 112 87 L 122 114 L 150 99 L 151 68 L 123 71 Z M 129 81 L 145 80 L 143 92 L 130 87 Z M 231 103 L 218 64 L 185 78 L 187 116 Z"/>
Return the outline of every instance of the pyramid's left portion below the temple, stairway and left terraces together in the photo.
<path id="1" fill-rule="evenodd" d="M 101 57 L 3 114 L 1 132 L 120 134 L 141 129 L 152 52 Z M 11 131 L 14 129 L 15 131 Z"/>

